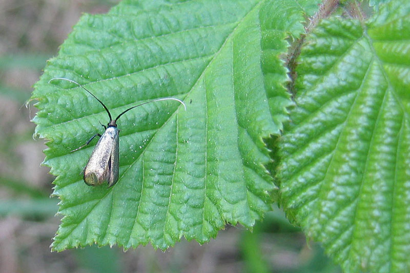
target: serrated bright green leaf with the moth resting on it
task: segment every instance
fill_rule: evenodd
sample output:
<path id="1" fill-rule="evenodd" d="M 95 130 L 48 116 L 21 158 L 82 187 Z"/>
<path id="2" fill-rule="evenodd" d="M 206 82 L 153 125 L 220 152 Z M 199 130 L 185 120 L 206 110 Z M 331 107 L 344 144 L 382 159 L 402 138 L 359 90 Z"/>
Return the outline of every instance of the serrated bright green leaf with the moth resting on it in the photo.
<path id="1" fill-rule="evenodd" d="M 275 187 L 263 139 L 279 133 L 291 100 L 278 61 L 287 30 L 275 29 L 269 3 L 124 1 L 81 17 L 32 96 L 64 215 L 53 250 L 203 243 L 226 223 L 252 228 L 270 210 Z M 84 85 L 113 116 L 169 96 L 187 110 L 162 101 L 121 116 L 118 183 L 89 187 L 81 171 L 96 140 L 69 151 L 103 133 L 107 113 L 76 85 L 48 83 L 52 77 Z"/>

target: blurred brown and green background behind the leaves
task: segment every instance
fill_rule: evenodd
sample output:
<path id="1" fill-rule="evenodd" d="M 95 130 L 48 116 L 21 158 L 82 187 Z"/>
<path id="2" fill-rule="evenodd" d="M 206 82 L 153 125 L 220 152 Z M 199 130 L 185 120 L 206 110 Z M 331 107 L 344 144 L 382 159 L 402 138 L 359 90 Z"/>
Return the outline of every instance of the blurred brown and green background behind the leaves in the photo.
<path id="1" fill-rule="evenodd" d="M 274 208 L 253 232 L 228 226 L 202 246 L 182 240 L 166 252 L 86 247 L 50 252 L 60 217 L 43 140 L 33 140 L 31 86 L 82 13 L 118 1 L 0 0 L 0 273 L 340 272 Z"/>

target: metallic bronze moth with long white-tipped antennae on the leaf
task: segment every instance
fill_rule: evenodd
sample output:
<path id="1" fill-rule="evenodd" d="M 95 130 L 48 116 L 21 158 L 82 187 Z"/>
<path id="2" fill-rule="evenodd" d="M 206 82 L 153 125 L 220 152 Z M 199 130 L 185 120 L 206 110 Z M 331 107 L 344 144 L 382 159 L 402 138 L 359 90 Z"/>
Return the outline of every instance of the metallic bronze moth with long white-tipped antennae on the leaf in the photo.
<path id="1" fill-rule="evenodd" d="M 112 187 L 118 181 L 118 168 L 119 168 L 119 129 L 117 128 L 116 122 L 120 118 L 121 115 L 125 114 L 131 109 L 134 109 L 138 106 L 159 102 L 159 101 L 177 101 L 183 105 L 186 109 L 185 103 L 182 101 L 175 99 L 174 97 L 163 97 L 161 99 L 151 100 L 145 103 L 141 103 L 135 106 L 132 106 L 125 111 L 122 111 L 115 119 L 112 118 L 110 111 L 108 110 L 107 106 L 103 102 L 101 102 L 93 93 L 88 91 L 84 86 L 80 85 L 77 82 L 72 80 L 63 78 L 63 77 L 55 77 L 49 81 L 54 80 L 64 80 L 69 81 L 78 85 L 79 87 L 86 90 L 89 94 L 91 94 L 101 105 L 103 105 L 104 109 L 108 113 L 108 117 L 110 122 L 107 126 L 103 125 L 105 128 L 104 133 L 101 135 L 99 133 L 94 134 L 83 146 L 72 150 L 71 152 L 77 151 L 85 146 L 87 146 L 96 136 L 99 136 L 99 140 L 93 152 L 91 153 L 90 159 L 86 167 L 84 168 L 84 182 L 86 182 L 89 186 L 96 186 L 101 185 L 105 182 L 108 183 L 108 187 Z"/>

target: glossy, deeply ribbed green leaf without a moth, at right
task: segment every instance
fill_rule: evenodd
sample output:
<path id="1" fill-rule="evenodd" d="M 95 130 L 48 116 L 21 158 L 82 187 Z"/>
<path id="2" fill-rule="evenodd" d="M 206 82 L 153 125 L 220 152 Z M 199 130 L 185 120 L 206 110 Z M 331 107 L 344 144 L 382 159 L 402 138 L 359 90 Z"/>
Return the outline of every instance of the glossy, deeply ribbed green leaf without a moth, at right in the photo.
<path id="1" fill-rule="evenodd" d="M 410 4 L 306 37 L 292 123 L 279 143 L 281 204 L 346 272 L 410 270 Z"/>

